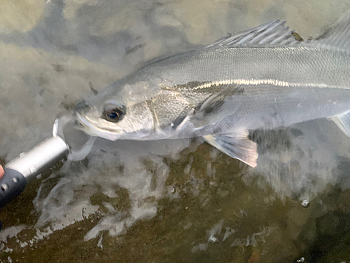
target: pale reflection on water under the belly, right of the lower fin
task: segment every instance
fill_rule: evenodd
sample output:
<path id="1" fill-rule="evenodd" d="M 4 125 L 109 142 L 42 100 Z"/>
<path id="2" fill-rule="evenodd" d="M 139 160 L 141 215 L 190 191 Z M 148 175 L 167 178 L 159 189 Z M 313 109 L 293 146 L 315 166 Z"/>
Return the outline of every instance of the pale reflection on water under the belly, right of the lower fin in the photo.
<path id="1" fill-rule="evenodd" d="M 299 196 L 311 200 L 327 184 L 344 179 L 339 164 L 349 163 L 349 138 L 326 119 L 298 123 L 282 130 L 256 131 L 258 166 L 244 180 L 262 175 L 281 198 Z M 263 184 L 262 184 L 263 187 Z"/>

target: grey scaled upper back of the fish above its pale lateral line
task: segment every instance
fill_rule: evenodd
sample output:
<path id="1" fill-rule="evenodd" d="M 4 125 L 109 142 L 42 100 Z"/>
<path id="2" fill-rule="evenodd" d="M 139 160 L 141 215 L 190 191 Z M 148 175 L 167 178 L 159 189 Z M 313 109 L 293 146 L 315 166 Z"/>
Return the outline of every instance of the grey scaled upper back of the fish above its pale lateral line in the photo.
<path id="1" fill-rule="evenodd" d="M 160 82 L 167 80 L 172 86 L 190 81 L 239 83 L 239 80 L 256 82 L 258 79 L 275 79 L 286 82 L 286 85 L 301 83 L 344 88 L 350 83 L 350 53 L 328 46 L 238 47 L 203 51 L 193 54 L 193 58 L 188 56 L 174 58 L 183 60 L 179 65 L 171 58 L 168 62 L 176 65 L 166 68 L 162 64 L 148 66 L 141 69 L 141 74 L 153 76 L 153 72 L 158 72 L 162 76 Z M 137 74 L 135 79 L 139 79 Z"/>

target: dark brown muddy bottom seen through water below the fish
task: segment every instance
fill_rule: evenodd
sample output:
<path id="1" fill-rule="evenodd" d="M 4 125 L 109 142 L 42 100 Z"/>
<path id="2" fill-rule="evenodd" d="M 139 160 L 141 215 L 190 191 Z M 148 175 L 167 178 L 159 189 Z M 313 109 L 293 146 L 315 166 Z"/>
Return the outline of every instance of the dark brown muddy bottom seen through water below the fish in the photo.
<path id="1" fill-rule="evenodd" d="M 92 195 L 90 202 L 98 205 L 96 213 L 45 236 L 50 227 L 34 228 L 38 215 L 32 203 L 42 182 L 30 184 L 0 212 L 5 231 L 10 226 L 25 226 L 17 236 L 1 242 L 2 262 L 346 262 L 350 259 L 349 190 L 328 187 L 305 208 L 297 199 L 276 198 L 260 177 L 244 182 L 246 166 L 220 153 L 213 160 L 213 151 L 208 144 L 202 144 L 197 151 L 184 150 L 177 161 L 165 160 L 170 167 L 165 183 L 169 194 L 158 199 L 153 218 L 138 220 L 118 236 L 102 231 L 96 238 L 88 241 L 84 238 L 106 215 L 117 221 L 127 217 L 130 196 L 126 189 L 118 189 L 115 198 L 102 192 Z M 146 163 L 145 167 L 152 169 L 152 163 Z M 46 191 L 62 176 L 58 172 L 47 180 L 43 184 Z M 144 202 L 155 201 L 148 199 Z M 120 214 L 113 213 L 113 209 Z"/>

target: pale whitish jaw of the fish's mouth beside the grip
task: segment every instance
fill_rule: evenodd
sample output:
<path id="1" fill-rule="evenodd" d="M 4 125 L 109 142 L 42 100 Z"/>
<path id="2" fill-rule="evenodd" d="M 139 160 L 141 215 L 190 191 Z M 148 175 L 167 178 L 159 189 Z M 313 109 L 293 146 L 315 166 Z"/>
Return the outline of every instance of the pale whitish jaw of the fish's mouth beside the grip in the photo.
<path id="1" fill-rule="evenodd" d="M 108 128 L 102 128 L 94 125 L 95 121 L 92 121 L 87 116 L 81 115 L 79 112 L 76 112 L 76 119 L 80 124 L 80 127 L 78 127 L 78 129 L 83 130 L 85 133 L 89 135 L 102 137 L 107 140 L 113 140 L 113 141 L 118 140 L 122 135 L 121 130 L 110 130 Z"/>

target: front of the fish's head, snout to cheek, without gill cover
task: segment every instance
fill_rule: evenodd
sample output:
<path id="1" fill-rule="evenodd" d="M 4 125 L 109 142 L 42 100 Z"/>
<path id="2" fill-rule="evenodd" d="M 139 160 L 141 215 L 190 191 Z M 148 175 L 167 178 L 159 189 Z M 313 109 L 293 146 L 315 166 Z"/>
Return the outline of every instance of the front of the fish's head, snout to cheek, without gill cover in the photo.
<path id="1" fill-rule="evenodd" d="M 149 82 L 117 81 L 76 104 L 78 128 L 108 140 L 145 140 L 154 134 Z"/>

